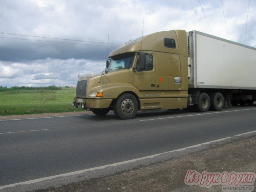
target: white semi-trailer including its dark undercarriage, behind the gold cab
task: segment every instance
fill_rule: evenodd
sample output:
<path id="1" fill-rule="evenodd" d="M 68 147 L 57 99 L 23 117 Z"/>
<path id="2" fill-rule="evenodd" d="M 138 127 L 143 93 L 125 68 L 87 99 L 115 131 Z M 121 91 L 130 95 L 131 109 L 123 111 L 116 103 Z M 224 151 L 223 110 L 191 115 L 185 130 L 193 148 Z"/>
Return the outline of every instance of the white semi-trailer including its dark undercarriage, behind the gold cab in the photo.
<path id="1" fill-rule="evenodd" d="M 190 31 L 187 36 L 190 104 L 199 105 L 198 97 L 202 92 L 211 100 L 213 97 L 222 100 L 223 95 L 224 106 L 253 104 L 256 100 L 256 48 L 198 31 Z M 215 107 L 216 110 L 221 108 L 221 105 Z"/>

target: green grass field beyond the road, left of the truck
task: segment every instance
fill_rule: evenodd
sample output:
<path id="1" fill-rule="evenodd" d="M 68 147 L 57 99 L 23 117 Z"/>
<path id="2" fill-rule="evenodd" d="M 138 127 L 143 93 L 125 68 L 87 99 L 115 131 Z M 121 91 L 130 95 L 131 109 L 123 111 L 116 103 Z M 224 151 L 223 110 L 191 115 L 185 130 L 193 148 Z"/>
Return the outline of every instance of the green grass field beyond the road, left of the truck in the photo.
<path id="1" fill-rule="evenodd" d="M 76 89 L 17 90 L 0 88 L 0 116 L 84 111 L 72 102 Z"/>

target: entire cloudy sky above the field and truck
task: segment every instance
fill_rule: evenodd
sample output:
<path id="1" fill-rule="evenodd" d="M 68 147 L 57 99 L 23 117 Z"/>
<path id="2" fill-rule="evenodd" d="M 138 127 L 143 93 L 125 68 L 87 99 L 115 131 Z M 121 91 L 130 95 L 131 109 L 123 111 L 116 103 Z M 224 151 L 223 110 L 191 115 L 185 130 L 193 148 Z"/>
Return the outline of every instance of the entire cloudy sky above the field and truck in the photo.
<path id="1" fill-rule="evenodd" d="M 198 0 L 0 0 L 0 85 L 74 86 L 140 37 L 143 18 L 143 35 L 198 30 L 256 47 L 256 0 L 249 12 L 249 0 L 200 2 L 204 13 Z"/>

